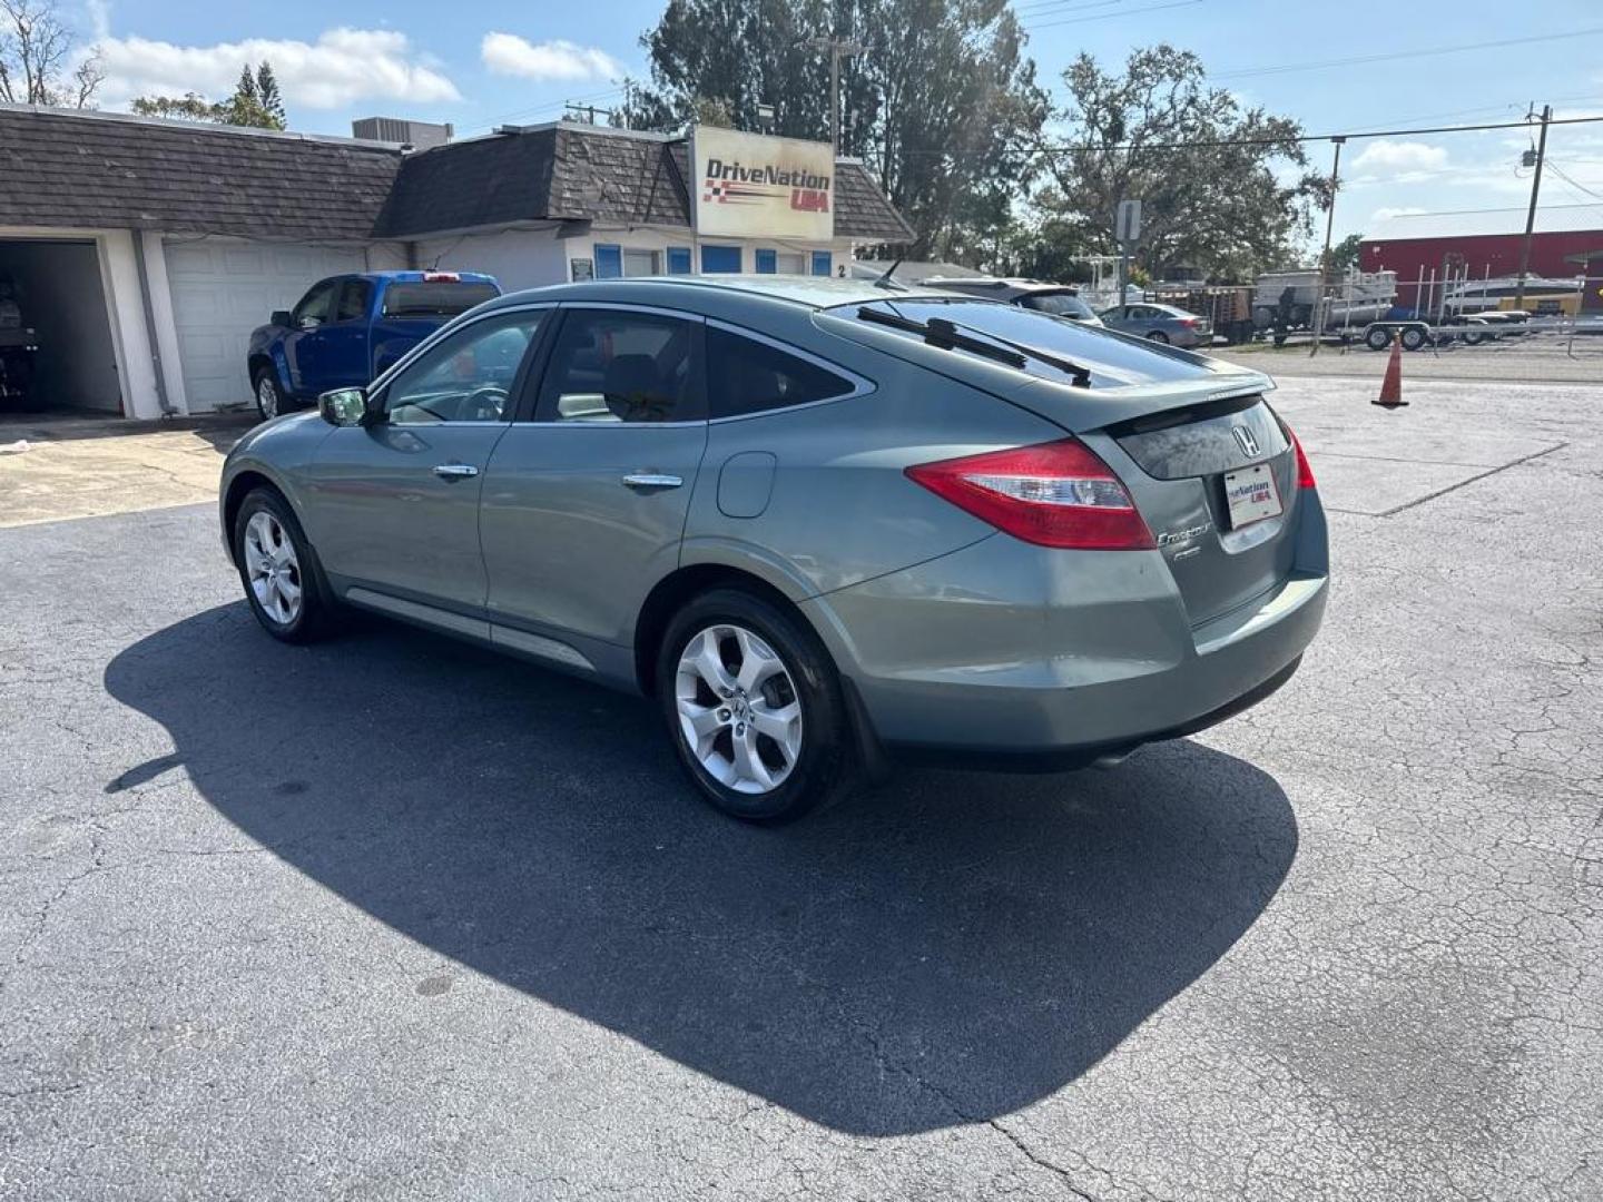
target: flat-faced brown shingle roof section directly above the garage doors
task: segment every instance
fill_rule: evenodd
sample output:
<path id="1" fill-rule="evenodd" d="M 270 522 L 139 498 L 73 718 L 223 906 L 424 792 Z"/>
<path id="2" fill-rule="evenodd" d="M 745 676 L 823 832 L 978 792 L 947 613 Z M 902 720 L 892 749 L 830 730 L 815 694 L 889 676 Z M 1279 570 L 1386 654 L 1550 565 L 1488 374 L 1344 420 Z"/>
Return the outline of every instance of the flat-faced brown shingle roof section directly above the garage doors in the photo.
<path id="1" fill-rule="evenodd" d="M 0 223 L 367 239 L 394 147 L 0 106 Z"/>

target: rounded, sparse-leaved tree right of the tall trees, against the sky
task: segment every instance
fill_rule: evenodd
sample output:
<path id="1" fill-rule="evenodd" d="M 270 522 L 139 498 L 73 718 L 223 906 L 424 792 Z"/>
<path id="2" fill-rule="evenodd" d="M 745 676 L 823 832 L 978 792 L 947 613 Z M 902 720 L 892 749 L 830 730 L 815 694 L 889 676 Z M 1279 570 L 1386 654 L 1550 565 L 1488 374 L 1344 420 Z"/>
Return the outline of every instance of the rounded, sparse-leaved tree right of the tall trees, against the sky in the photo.
<path id="1" fill-rule="evenodd" d="M 1080 54 L 1063 83 L 1053 125 L 1068 135 L 1042 147 L 1039 200 L 1087 252 L 1112 253 L 1119 202 L 1140 199 L 1140 266 L 1157 277 L 1177 266 L 1250 277 L 1294 260 L 1329 202 L 1329 178 L 1295 141 L 1302 127 L 1209 87 L 1189 51 L 1138 50 L 1122 74 Z"/>

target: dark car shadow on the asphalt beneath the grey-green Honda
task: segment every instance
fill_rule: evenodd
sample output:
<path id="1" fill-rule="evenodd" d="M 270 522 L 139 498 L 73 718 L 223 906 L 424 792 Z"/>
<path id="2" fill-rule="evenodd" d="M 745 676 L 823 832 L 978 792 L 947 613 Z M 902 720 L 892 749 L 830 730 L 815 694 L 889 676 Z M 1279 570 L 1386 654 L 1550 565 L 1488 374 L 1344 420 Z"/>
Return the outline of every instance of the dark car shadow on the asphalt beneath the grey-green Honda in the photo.
<path id="1" fill-rule="evenodd" d="M 854 1135 L 1072 1082 L 1252 926 L 1297 851 L 1279 785 L 1194 742 L 1111 772 L 906 771 L 749 827 L 699 803 L 648 702 L 386 623 L 287 647 L 224 606 L 106 686 L 353 906 Z"/>

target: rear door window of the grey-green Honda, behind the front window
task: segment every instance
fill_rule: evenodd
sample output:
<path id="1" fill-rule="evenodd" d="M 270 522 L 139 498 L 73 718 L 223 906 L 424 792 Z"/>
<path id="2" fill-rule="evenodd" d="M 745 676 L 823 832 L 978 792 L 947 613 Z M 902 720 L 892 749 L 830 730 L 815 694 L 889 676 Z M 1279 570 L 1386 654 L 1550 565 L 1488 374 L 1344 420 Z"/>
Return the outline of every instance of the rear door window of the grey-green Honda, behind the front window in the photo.
<path id="1" fill-rule="evenodd" d="M 572 309 L 540 386 L 540 422 L 686 422 L 699 413 L 696 325 Z"/>

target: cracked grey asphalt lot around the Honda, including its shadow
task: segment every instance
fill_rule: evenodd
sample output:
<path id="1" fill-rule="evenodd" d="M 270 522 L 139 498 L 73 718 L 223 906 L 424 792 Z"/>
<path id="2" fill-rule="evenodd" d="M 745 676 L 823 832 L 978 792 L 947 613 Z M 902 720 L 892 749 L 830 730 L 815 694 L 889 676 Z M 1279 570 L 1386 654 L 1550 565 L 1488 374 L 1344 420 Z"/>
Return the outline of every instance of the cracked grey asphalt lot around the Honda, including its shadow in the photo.
<path id="1" fill-rule="evenodd" d="M 643 702 L 0 529 L 0 1196 L 1603 1196 L 1603 388 L 1287 378 L 1334 596 L 1109 772 L 717 817 Z"/>

